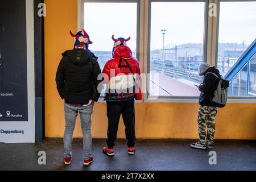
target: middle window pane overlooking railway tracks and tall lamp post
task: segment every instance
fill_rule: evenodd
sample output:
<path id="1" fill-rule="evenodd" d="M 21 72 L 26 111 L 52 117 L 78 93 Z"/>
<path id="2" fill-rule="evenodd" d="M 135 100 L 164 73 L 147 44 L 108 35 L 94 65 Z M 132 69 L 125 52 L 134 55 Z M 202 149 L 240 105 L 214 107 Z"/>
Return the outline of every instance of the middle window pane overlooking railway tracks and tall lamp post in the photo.
<path id="1" fill-rule="evenodd" d="M 150 96 L 199 96 L 204 15 L 204 2 L 152 2 Z"/>

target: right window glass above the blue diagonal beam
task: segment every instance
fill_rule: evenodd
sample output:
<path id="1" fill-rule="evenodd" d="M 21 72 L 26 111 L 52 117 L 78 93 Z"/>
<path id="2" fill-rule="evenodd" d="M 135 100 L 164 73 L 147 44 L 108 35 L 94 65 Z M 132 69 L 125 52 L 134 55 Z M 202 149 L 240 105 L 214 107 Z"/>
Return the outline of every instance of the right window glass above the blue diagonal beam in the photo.
<path id="1" fill-rule="evenodd" d="M 220 2 L 218 69 L 222 76 L 256 38 L 256 2 Z"/>

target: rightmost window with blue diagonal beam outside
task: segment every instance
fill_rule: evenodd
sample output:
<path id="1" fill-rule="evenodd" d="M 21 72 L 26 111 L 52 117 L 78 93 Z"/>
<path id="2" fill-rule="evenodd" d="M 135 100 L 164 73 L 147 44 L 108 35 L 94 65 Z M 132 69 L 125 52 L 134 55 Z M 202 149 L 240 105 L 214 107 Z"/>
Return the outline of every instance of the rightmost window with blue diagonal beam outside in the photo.
<path id="1" fill-rule="evenodd" d="M 249 61 L 244 53 L 249 51 L 247 48 L 253 46 L 256 38 L 255 10 L 256 2 L 220 2 L 217 66 L 224 77 L 237 74 L 229 80 L 232 81 L 229 96 L 256 96 L 247 89 L 247 64 L 237 70 L 237 67 Z"/>

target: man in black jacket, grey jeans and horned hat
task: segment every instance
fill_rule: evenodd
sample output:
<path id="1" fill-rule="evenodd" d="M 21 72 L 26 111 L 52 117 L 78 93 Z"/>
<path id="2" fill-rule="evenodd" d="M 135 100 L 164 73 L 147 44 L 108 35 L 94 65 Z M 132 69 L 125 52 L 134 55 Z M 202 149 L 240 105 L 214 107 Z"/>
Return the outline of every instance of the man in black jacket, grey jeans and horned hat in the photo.
<path id="1" fill-rule="evenodd" d="M 93 93 L 93 86 L 97 89 L 101 81 L 101 73 L 96 56 L 88 49 L 88 34 L 85 31 L 77 32 L 75 48 L 65 51 L 62 55 L 56 73 L 57 90 L 64 99 L 65 133 L 64 133 L 64 163 L 71 164 L 72 138 L 75 129 L 77 114 L 80 113 L 84 144 L 84 165 L 93 163 L 91 115 L 94 101 L 98 101 L 101 89 L 97 96 Z M 94 98 L 94 100 L 93 100 Z"/>

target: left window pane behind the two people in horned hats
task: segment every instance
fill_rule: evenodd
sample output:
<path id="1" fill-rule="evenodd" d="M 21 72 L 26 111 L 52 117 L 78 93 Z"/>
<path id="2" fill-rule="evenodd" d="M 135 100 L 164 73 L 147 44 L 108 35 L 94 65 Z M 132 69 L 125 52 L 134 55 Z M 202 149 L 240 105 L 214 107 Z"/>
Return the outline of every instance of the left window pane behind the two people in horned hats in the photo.
<path id="1" fill-rule="evenodd" d="M 129 13 L 123 13 L 123 9 Z M 106 61 L 112 59 L 114 45 L 112 35 L 115 39 L 126 39 L 130 36 L 131 39 L 127 42 L 127 46 L 136 57 L 137 3 L 85 2 L 84 29 L 93 42 L 89 45 L 89 49 L 98 57 L 101 70 Z M 104 91 L 105 88 L 102 89 L 102 96 Z"/>

